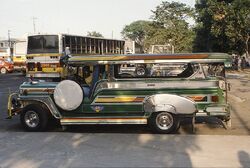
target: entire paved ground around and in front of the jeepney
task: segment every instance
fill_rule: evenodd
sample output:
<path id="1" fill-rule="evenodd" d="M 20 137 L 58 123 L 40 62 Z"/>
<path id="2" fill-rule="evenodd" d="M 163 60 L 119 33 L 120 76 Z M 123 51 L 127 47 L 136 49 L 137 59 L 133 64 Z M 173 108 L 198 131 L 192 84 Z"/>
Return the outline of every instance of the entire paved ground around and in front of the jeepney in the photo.
<path id="1" fill-rule="evenodd" d="M 250 167 L 249 78 L 235 78 L 229 95 L 231 129 L 214 118 L 200 118 L 194 134 L 185 121 L 176 134 L 160 135 L 141 125 L 66 131 L 51 125 L 48 132 L 24 132 L 18 117 L 5 118 L 9 91 L 27 79 L 18 73 L 0 75 L 0 168 Z"/>

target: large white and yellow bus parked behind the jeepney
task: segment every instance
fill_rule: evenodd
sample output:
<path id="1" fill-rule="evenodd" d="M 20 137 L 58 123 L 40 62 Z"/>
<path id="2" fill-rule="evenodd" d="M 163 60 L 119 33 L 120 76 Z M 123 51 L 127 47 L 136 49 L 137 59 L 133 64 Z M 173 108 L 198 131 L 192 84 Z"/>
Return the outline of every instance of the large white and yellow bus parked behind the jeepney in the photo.
<path id="1" fill-rule="evenodd" d="M 44 79 L 64 78 L 62 56 L 123 54 L 124 40 L 69 34 L 37 34 L 27 39 L 26 76 Z"/>

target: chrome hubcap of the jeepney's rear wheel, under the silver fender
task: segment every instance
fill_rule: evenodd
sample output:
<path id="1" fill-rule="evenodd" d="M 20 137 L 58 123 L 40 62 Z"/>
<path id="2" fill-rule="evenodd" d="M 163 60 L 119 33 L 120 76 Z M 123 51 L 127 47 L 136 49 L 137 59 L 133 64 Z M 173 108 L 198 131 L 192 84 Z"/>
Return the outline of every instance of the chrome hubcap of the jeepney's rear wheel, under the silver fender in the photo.
<path id="1" fill-rule="evenodd" d="M 173 126 L 174 119 L 171 114 L 163 112 L 157 115 L 156 125 L 162 130 L 168 130 Z"/>

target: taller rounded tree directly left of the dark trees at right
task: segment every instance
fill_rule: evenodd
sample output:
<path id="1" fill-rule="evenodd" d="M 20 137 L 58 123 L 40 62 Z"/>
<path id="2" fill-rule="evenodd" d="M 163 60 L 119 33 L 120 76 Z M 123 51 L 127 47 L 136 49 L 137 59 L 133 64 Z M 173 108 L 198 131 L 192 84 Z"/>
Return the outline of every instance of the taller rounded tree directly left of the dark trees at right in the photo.
<path id="1" fill-rule="evenodd" d="M 162 2 L 153 12 L 153 21 L 160 27 L 151 38 L 164 37 L 160 43 L 174 46 L 176 52 L 191 51 L 194 33 L 187 19 L 194 16 L 194 11 L 186 4 L 179 2 Z"/>

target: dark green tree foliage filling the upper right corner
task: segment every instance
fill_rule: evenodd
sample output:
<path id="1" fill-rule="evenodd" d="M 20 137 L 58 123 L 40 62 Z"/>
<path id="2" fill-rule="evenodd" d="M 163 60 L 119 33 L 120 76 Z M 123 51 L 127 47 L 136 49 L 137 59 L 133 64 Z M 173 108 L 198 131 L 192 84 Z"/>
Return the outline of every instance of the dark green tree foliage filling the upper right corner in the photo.
<path id="1" fill-rule="evenodd" d="M 248 53 L 249 0 L 200 0 L 194 51 Z"/>

